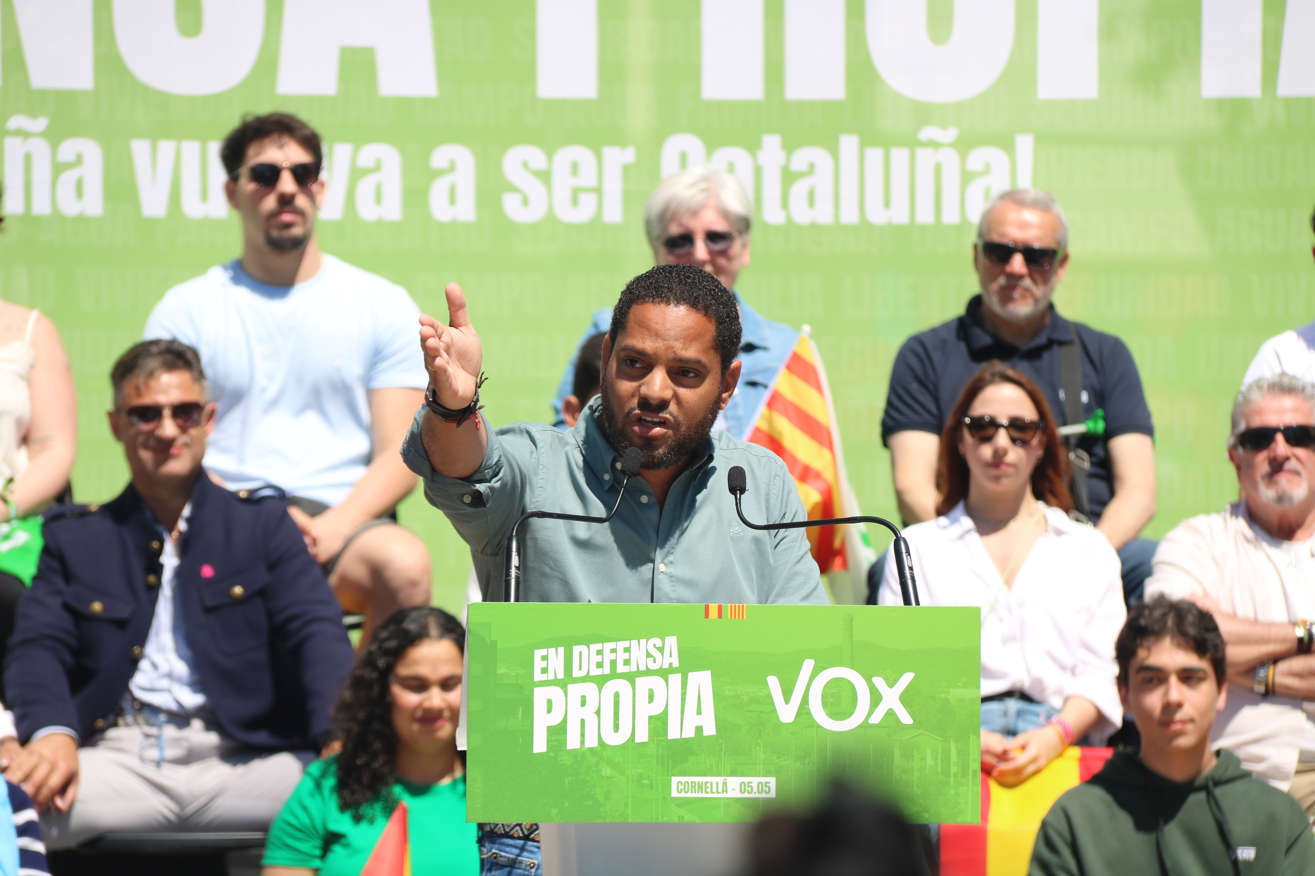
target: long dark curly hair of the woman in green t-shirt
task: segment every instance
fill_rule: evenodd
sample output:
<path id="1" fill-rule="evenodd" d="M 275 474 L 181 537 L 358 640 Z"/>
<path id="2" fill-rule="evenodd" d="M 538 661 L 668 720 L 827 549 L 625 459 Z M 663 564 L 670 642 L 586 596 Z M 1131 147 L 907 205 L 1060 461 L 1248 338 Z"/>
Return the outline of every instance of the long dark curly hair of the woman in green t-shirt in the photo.
<path id="1" fill-rule="evenodd" d="M 356 659 L 334 707 L 338 755 L 338 809 L 354 821 L 387 814 L 397 805 L 392 792 L 397 734 L 392 718 L 392 678 L 397 661 L 422 640 L 448 640 L 466 654 L 462 623 L 442 608 L 418 605 L 393 613 L 375 630 Z"/>

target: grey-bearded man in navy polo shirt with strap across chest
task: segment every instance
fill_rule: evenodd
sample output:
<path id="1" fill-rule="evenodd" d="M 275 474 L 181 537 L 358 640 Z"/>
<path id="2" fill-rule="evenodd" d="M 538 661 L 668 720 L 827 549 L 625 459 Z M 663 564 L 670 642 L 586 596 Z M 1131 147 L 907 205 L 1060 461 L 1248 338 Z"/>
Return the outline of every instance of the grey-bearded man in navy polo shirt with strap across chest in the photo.
<path id="1" fill-rule="evenodd" d="M 986 205 L 973 243 L 981 294 L 961 317 L 899 348 L 881 440 L 890 448 L 899 514 L 914 524 L 936 516 L 945 416 L 988 361 L 998 359 L 1032 378 L 1060 423 L 1080 424 L 1099 412 L 1103 435 L 1069 441 L 1076 473 L 1070 493 L 1077 510 L 1119 552 L 1131 605 L 1141 596 L 1155 554 L 1155 542 L 1137 537 L 1155 516 L 1155 431 L 1127 345 L 1064 319 L 1051 303 L 1068 259 L 1068 222 L 1055 196 L 1013 189 Z"/>

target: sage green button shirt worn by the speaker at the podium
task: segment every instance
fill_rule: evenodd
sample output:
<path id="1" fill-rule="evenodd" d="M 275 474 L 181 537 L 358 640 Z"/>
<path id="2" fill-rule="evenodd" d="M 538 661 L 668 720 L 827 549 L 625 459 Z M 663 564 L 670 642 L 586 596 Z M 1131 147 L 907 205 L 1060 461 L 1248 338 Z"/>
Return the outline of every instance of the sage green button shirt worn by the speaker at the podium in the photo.
<path id="1" fill-rule="evenodd" d="M 504 550 L 530 510 L 602 516 L 617 500 L 619 454 L 594 412 L 569 432 L 538 423 L 489 429 L 484 464 L 468 478 L 434 471 L 416 414 L 402 458 L 425 498 L 471 546 L 485 599 L 502 598 Z M 481 424 L 487 428 L 487 424 Z M 471 428 L 469 424 L 463 428 Z M 659 510 L 639 477 L 606 524 L 527 520 L 521 527 L 521 599 L 551 603 L 827 603 L 803 529 L 756 532 L 739 523 L 726 473 L 748 475 L 753 523 L 802 520 L 790 473 L 771 450 L 713 432 Z"/>

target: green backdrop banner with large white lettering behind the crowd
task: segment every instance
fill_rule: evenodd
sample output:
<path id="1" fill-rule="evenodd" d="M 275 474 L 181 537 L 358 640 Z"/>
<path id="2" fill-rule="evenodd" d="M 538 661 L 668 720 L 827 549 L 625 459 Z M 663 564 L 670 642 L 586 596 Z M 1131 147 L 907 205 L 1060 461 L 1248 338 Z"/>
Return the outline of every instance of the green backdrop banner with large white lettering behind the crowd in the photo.
<path id="1" fill-rule="evenodd" d="M 464 284 L 494 423 L 548 415 L 589 313 L 651 264 L 664 168 L 732 169 L 756 204 L 740 290 L 813 326 L 869 512 L 894 515 L 894 353 L 961 311 L 1006 185 L 1059 194 L 1056 302 L 1141 369 L 1152 536 L 1236 495 L 1231 398 L 1315 310 L 1312 0 L 3 0 L 0 95 L 0 296 L 63 332 L 84 502 L 126 478 L 114 356 L 238 252 L 216 142 L 245 112 L 322 133 L 327 251 L 426 310 Z M 464 545 L 418 496 L 402 520 L 458 607 Z"/>

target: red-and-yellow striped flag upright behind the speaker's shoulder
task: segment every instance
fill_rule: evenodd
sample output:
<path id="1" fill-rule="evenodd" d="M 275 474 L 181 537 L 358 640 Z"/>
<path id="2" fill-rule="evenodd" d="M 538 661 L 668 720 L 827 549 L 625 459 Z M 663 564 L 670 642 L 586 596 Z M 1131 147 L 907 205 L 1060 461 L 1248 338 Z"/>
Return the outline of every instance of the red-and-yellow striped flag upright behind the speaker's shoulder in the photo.
<path id="1" fill-rule="evenodd" d="M 844 471 L 826 369 L 807 326 L 777 373 L 748 440 L 785 461 L 809 520 L 859 514 Z M 855 579 L 855 595 L 861 588 L 867 596 L 865 575 L 874 556 L 861 528 L 819 527 L 805 532 L 822 574 L 848 569 Z M 864 578 L 861 584 L 859 578 Z"/>

